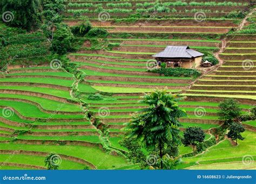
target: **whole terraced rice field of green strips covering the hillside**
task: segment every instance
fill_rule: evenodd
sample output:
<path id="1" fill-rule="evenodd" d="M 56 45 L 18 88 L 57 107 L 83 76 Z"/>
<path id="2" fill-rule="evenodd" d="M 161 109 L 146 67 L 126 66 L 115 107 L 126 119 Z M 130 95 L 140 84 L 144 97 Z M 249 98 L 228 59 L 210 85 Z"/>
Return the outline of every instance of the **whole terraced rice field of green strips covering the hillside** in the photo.
<path id="1" fill-rule="evenodd" d="M 232 4 L 232 11 L 248 8 L 249 1 L 239 2 Z M 82 19 L 74 18 L 73 13 L 80 10 L 89 17 L 93 27 L 105 28 L 110 33 L 98 41 L 117 46 L 111 51 L 90 50 L 86 41 L 78 52 L 69 53 L 70 63 L 78 64 L 79 70 L 86 74 L 80 82 L 65 69 L 53 70 L 50 66 L 15 68 L 4 73 L 0 78 L 1 169 L 45 169 L 44 158 L 51 152 L 62 158 L 59 169 L 84 169 L 86 166 L 138 169 L 127 161 L 127 149 L 119 141 L 125 133 L 124 123 L 130 121 L 131 114 L 145 107 L 138 103 L 139 96 L 156 87 L 167 87 L 171 93 L 187 96 L 179 103 L 188 114 L 187 118 L 179 119 L 183 125 L 181 130 L 199 126 L 206 133 L 205 140 L 213 137 L 211 132 L 223 124 L 217 111 L 225 98 L 236 98 L 243 113 L 255 104 L 256 37 L 255 34 L 227 35 L 230 30 L 244 26 L 240 25 L 244 19 L 220 18 L 231 13 L 228 5 L 170 5 L 173 16 L 170 12 L 158 12 L 161 19 L 140 18 L 131 23 L 118 23 L 117 17 L 127 18 L 136 11 L 144 11 L 138 10 L 142 5 L 137 4 L 141 2 L 128 2 L 131 4 L 128 8 L 119 7 L 119 3 L 111 7 L 107 2 L 100 2 L 110 15 L 104 22 L 98 20 L 96 4 L 99 2 L 68 3 L 64 23 L 78 25 Z M 112 12 L 116 7 L 131 10 Z M 196 21 L 193 9 L 205 8 L 209 10 L 205 12 L 206 19 Z M 142 14 L 147 13 L 152 12 Z M 221 63 L 197 79 L 148 72 L 147 61 L 152 59 L 151 55 L 167 45 L 189 45 L 210 53 L 223 49 L 219 52 Z M 245 62 L 246 66 L 248 63 L 252 66 L 245 70 Z M 81 103 L 71 101 L 74 89 L 79 92 L 80 100 L 106 125 L 107 136 L 86 118 L 87 109 Z M 96 93 L 103 94 L 104 100 L 89 100 L 89 96 Z M 198 109 L 203 113 L 198 114 Z M 255 162 L 243 165 L 242 157 L 248 154 L 256 158 L 256 124 L 255 121 L 243 123 L 244 141 L 234 146 L 232 141 L 224 139 L 202 154 L 183 158 L 180 168 L 255 169 Z M 108 153 L 106 148 L 116 152 Z M 179 151 L 183 155 L 193 149 L 179 146 Z"/>

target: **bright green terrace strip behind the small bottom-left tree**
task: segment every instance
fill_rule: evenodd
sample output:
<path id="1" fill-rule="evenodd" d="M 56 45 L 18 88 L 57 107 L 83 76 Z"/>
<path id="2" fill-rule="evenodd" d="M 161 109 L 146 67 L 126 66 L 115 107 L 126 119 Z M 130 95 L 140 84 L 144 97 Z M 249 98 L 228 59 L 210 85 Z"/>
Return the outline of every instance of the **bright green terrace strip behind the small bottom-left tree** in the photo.
<path id="1" fill-rule="evenodd" d="M 60 157 L 61 158 L 61 157 Z M 25 154 L 0 154 L 0 162 L 8 160 L 8 162 L 18 163 L 18 164 L 29 164 L 44 167 L 45 157 L 38 155 L 25 155 Z M 83 169 L 85 165 L 79 164 L 78 162 L 73 162 L 70 160 L 62 161 L 58 169 Z"/>

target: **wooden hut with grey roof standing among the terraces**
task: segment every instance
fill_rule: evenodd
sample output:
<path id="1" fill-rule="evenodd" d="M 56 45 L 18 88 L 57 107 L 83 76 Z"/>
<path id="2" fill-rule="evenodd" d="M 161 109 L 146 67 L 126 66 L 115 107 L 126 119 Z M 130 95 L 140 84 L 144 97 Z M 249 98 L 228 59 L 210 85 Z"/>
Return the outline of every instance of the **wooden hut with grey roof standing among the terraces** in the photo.
<path id="1" fill-rule="evenodd" d="M 201 64 L 204 54 L 188 46 L 167 46 L 164 51 L 152 55 L 158 62 L 165 62 L 166 67 L 196 68 Z"/>

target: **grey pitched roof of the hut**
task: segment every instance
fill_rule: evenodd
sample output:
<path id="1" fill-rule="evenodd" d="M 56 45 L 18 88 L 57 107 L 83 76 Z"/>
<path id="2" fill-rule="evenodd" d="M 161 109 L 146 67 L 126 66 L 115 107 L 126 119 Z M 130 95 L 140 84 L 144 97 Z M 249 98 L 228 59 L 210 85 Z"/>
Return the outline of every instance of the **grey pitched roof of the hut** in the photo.
<path id="1" fill-rule="evenodd" d="M 164 51 L 152 55 L 155 58 L 196 58 L 204 55 L 188 46 L 167 46 Z"/>

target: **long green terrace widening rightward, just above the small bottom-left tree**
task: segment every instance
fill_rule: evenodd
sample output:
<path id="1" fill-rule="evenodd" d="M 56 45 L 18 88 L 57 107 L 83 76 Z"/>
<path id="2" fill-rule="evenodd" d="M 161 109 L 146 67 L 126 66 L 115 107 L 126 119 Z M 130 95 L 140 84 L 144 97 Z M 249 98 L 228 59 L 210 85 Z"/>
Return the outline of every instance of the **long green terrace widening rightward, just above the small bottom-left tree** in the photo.
<path id="1" fill-rule="evenodd" d="M 0 143 L 2 150 L 28 150 L 28 151 L 41 151 L 41 152 L 54 152 L 56 154 L 66 154 L 73 157 L 78 157 L 85 159 L 99 169 L 107 169 L 115 167 L 121 167 L 127 165 L 125 158 L 121 156 L 114 156 L 107 154 L 104 151 L 100 150 L 99 147 L 95 146 L 53 146 L 53 145 L 27 145 L 27 144 L 17 144 L 9 143 L 3 144 Z"/>

